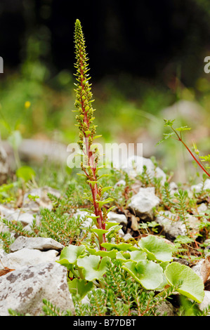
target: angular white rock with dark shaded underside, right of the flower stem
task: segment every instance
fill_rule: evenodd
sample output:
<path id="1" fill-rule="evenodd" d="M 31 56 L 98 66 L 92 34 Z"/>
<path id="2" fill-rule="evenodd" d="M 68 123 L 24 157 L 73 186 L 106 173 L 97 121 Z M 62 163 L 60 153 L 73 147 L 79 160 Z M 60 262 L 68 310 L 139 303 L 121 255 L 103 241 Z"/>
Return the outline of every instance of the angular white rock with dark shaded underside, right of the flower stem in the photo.
<path id="1" fill-rule="evenodd" d="M 129 209 L 141 219 L 154 217 L 152 208 L 159 205 L 159 197 L 155 195 L 155 187 L 140 188 L 139 192 L 131 197 Z"/>

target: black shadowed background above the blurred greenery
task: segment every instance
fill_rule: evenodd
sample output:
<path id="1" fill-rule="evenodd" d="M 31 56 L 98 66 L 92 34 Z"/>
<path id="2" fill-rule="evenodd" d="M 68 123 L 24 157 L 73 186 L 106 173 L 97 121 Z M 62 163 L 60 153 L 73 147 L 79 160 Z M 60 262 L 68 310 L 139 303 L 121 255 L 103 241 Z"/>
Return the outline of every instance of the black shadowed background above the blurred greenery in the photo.
<path id="1" fill-rule="evenodd" d="M 25 60 L 30 35 L 43 41 L 41 60 L 51 74 L 74 69 L 74 22 L 81 20 L 91 75 L 126 72 L 167 81 L 181 66 L 193 86 L 209 47 L 208 4 L 199 0 L 1 0 L 0 55 L 4 71 Z M 199 65 L 198 65 L 199 63 Z"/>

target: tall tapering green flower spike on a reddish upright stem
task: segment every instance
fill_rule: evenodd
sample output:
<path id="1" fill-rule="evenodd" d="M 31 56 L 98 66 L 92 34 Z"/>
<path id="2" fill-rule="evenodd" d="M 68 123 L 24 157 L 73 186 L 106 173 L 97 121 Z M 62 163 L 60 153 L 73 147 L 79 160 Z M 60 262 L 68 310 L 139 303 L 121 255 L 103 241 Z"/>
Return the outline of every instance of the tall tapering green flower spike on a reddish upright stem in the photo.
<path id="1" fill-rule="evenodd" d="M 79 112 L 76 116 L 77 126 L 79 126 L 79 147 L 82 150 L 84 157 L 81 163 L 81 169 L 86 175 L 86 182 L 91 189 L 91 202 L 93 203 L 93 209 L 96 218 L 96 225 L 99 230 L 98 242 L 101 250 L 105 250 L 100 244 L 105 242 L 105 216 L 103 217 L 103 205 L 105 201 L 101 201 L 101 189 L 98 187 L 98 150 L 93 143 L 93 138 L 96 136 L 96 126 L 93 125 L 93 99 L 91 93 L 91 84 L 89 84 L 88 75 L 88 58 L 86 54 L 86 46 L 84 40 L 84 34 L 81 29 L 81 23 L 79 20 L 75 22 L 75 53 L 76 64 L 74 67 L 77 69 L 75 76 L 77 77 L 77 89 L 75 107 Z"/>

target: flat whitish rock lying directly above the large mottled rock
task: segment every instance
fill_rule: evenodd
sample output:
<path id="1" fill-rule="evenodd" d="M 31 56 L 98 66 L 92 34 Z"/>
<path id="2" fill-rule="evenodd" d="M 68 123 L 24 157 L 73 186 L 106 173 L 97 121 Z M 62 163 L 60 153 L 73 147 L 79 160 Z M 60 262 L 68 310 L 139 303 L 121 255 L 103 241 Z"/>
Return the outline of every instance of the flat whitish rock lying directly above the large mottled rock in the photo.
<path id="1" fill-rule="evenodd" d="M 37 265 L 39 263 L 48 263 L 57 260 L 59 251 L 48 250 L 39 251 L 35 249 L 21 249 L 13 253 L 8 253 L 1 258 L 4 267 L 11 269 L 22 268 L 25 265 Z"/>

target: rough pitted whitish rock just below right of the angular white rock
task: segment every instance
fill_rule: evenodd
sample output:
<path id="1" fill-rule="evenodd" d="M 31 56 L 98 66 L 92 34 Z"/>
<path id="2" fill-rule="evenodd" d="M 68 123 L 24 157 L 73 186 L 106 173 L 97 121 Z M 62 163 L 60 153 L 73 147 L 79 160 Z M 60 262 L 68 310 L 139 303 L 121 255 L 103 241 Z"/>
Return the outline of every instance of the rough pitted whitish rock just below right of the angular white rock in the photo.
<path id="1" fill-rule="evenodd" d="M 179 235 L 186 235 L 187 230 L 185 224 L 183 221 L 177 220 L 176 216 L 170 211 L 159 211 L 155 221 L 163 227 L 164 232 L 171 238 L 176 238 Z"/>

